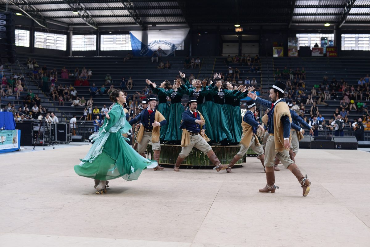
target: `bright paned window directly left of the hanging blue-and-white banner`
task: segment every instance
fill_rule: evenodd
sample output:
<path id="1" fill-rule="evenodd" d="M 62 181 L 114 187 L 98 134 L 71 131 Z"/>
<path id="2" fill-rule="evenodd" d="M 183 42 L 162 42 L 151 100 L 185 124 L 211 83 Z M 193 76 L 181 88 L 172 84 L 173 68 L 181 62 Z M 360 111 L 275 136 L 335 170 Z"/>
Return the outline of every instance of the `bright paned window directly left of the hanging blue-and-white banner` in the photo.
<path id="1" fill-rule="evenodd" d="M 131 37 L 129 34 L 108 34 L 100 36 L 100 50 L 102 51 L 131 51 Z"/>

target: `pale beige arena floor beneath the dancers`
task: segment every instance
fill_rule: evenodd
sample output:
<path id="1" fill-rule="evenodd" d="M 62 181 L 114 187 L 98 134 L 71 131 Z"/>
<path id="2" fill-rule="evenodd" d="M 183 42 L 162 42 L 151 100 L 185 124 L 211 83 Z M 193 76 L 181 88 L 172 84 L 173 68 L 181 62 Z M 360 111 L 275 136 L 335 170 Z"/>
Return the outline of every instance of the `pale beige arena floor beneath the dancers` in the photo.
<path id="1" fill-rule="evenodd" d="M 0 246 L 369 246 L 370 153 L 301 149 L 310 193 L 276 172 L 275 194 L 256 158 L 242 168 L 144 170 L 97 195 L 73 166 L 90 145 L 0 156 Z"/>

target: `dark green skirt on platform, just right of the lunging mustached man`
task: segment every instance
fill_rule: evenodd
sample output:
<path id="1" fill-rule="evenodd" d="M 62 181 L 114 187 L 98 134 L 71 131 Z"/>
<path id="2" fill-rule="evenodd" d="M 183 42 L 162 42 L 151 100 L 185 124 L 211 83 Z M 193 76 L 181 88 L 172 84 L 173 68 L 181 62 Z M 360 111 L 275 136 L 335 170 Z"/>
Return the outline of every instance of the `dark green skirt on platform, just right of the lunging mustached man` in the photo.
<path id="1" fill-rule="evenodd" d="M 213 129 L 213 141 L 232 141 L 231 130 L 229 129 L 229 119 L 226 105 L 213 104 L 211 125 Z"/>

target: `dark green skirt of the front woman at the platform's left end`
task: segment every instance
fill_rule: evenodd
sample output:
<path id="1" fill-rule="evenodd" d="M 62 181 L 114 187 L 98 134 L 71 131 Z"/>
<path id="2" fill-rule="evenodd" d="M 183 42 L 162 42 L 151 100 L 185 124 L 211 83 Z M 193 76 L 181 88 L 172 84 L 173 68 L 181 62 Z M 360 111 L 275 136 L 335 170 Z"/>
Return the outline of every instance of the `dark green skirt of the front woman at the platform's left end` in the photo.
<path id="1" fill-rule="evenodd" d="M 170 104 L 168 107 L 167 116 L 167 129 L 164 137 L 165 141 L 181 141 L 182 130 L 179 129 L 182 112 L 184 112 L 184 106 L 179 103 Z M 162 128 L 162 127 L 161 127 Z"/>

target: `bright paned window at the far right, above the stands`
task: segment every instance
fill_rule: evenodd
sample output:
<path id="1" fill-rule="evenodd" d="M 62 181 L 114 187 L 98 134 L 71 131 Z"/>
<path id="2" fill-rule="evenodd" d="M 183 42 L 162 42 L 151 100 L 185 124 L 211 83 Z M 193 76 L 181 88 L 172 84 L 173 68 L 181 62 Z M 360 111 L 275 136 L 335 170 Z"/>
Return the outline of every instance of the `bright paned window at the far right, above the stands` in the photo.
<path id="1" fill-rule="evenodd" d="M 369 51 L 370 34 L 342 34 L 342 50 Z"/>

